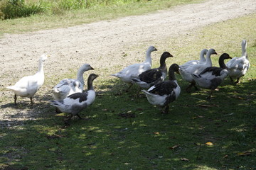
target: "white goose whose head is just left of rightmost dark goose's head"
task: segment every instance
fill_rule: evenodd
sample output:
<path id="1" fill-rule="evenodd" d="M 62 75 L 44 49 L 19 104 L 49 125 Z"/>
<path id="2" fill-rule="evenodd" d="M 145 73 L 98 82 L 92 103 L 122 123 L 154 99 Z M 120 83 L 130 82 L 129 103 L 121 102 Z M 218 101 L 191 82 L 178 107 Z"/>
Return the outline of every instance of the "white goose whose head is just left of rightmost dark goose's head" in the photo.
<path id="1" fill-rule="evenodd" d="M 187 67 L 186 69 L 179 68 L 179 72 L 181 74 L 181 77 L 185 81 L 188 81 L 189 83 L 191 83 L 186 88 L 186 91 L 188 91 L 188 92 L 191 91 L 191 87 L 195 86 L 195 81 L 193 81 L 193 78 L 192 78 L 191 74 L 199 74 L 203 71 L 203 69 L 206 69 L 207 67 L 212 66 L 212 62 L 210 60 L 211 55 L 218 55 L 217 52 L 215 52 L 215 50 L 213 48 L 208 50 L 208 52 L 206 53 L 206 62 L 199 63 L 199 64 L 193 64 L 193 65 Z M 196 86 L 195 86 L 195 88 L 196 88 Z"/>

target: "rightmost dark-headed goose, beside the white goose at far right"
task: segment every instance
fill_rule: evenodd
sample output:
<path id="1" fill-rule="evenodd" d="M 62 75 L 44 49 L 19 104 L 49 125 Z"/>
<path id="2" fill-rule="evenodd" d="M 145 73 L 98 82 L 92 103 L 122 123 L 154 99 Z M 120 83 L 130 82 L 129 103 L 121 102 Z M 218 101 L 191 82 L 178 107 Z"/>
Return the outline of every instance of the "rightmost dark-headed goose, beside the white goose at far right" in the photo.
<path id="1" fill-rule="evenodd" d="M 227 53 L 223 53 L 223 55 L 220 55 L 218 61 L 220 67 L 207 67 L 200 74 L 191 74 L 198 86 L 210 89 L 210 95 L 207 97 L 208 99 L 210 99 L 213 91 L 220 85 L 225 77 L 228 76 L 228 67 L 224 63 L 224 60 L 226 59 L 232 58 Z"/>

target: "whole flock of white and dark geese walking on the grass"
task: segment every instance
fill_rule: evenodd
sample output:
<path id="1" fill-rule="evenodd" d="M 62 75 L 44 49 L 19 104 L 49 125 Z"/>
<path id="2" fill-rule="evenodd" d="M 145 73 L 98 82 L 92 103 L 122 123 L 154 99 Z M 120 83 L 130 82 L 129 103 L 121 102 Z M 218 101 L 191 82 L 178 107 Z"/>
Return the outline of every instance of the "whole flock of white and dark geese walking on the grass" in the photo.
<path id="1" fill-rule="evenodd" d="M 189 85 L 186 91 L 191 88 L 200 86 L 210 89 L 208 98 L 213 91 L 221 84 L 225 77 L 230 77 L 231 81 L 235 80 L 238 84 L 240 77 L 244 76 L 250 67 L 247 57 L 247 41 L 242 40 L 242 56 L 233 59 L 227 53 L 223 53 L 219 57 L 219 67 L 213 67 L 210 60 L 211 55 L 217 55 L 214 49 L 203 49 L 200 54 L 200 60 L 191 60 L 185 64 L 171 64 L 169 71 L 166 67 L 166 59 L 173 57 L 169 52 L 164 52 L 160 57 L 160 66 L 151 69 L 151 52 L 156 51 L 154 46 L 150 46 L 146 50 L 146 60 L 142 63 L 132 64 L 122 69 L 116 74 L 127 84 L 129 88 L 133 84 L 137 84 L 146 95 L 147 100 L 152 105 L 161 106 L 161 113 L 169 112 L 169 103 L 175 101 L 181 93 L 181 88 L 175 77 L 175 73 L 181 74 L 183 80 L 188 81 Z M 206 57 L 205 57 L 206 55 Z M 28 97 L 33 104 L 33 96 L 40 89 L 44 81 L 43 62 L 47 60 L 48 55 L 42 55 L 39 60 L 39 70 L 36 74 L 23 77 L 14 86 L 7 86 L 7 89 L 14 91 L 14 104 L 16 105 L 17 96 Z M 225 60 L 229 60 L 225 64 Z M 90 74 L 87 79 L 87 91 L 83 91 L 85 81 L 83 79 L 84 72 L 93 69 L 90 64 L 83 64 L 78 69 L 77 79 L 63 79 L 53 88 L 53 101 L 50 104 L 55 106 L 58 111 L 68 113 L 70 116 L 66 120 L 68 122 L 74 115 L 81 118 L 79 113 L 90 106 L 95 101 L 95 90 L 92 82 L 98 77 L 97 74 Z M 166 77 L 169 79 L 166 79 Z M 128 89 L 129 89 L 128 88 Z M 56 111 L 57 111 L 56 110 Z"/>

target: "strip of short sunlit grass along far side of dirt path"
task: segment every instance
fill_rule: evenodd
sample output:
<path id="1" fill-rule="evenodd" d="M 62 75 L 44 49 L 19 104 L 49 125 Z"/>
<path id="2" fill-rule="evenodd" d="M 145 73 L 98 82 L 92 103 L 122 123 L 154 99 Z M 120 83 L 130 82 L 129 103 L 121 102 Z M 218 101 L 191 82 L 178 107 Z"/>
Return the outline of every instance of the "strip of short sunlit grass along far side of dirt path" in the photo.
<path id="1" fill-rule="evenodd" d="M 78 10 L 59 11 L 55 15 L 53 13 L 43 13 L 28 18 L 9 19 L 0 22 L 0 37 L 4 33 L 24 33 L 42 29 L 63 28 L 122 16 L 139 15 L 159 9 L 170 8 L 178 4 L 196 3 L 199 1 L 201 0 L 137 1 L 127 4 L 117 3 L 107 6 L 92 6 Z"/>

